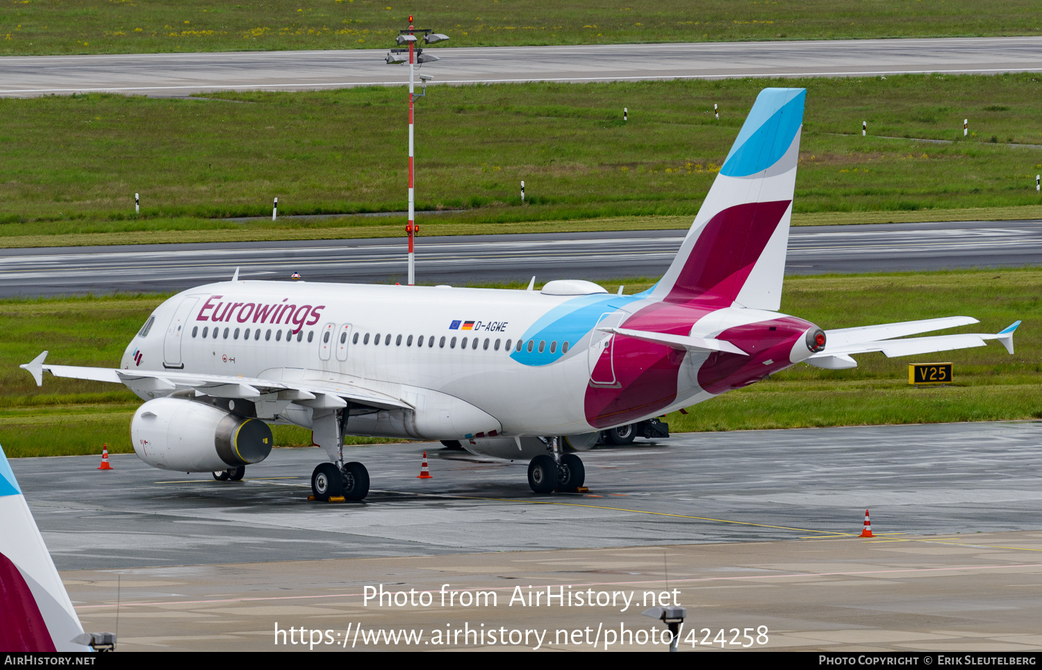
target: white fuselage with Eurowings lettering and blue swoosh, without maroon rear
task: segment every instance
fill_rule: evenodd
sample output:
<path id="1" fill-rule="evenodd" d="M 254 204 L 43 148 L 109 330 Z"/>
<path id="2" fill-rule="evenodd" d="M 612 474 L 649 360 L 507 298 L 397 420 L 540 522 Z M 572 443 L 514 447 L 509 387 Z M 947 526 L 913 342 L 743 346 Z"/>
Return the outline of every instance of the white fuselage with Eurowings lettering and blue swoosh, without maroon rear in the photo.
<path id="1" fill-rule="evenodd" d="M 134 338 L 121 367 L 356 384 L 401 398 L 417 413 L 431 410 L 424 395 L 435 392 L 491 415 L 503 435 L 574 435 L 604 427 L 592 425 L 584 406 L 591 373 L 611 339 L 595 326 L 612 320 L 618 325 L 646 302 L 605 293 L 224 282 L 185 291 L 156 308 L 148 337 Z M 697 316 L 685 334 L 697 330 Z M 713 336 L 780 315 L 727 308 L 704 316 L 711 331 L 698 334 Z M 688 358 L 687 367 L 704 361 Z M 615 364 L 620 379 L 624 364 Z M 614 378 L 600 381 L 618 386 Z M 676 384 L 668 391 L 677 406 L 714 395 L 700 393 L 691 373 Z M 662 411 L 649 408 L 643 418 Z M 280 417 L 300 425 L 308 425 L 308 418 L 292 412 Z M 630 414 L 618 423 L 634 420 Z M 365 420 L 355 424 L 362 435 L 379 432 Z"/>

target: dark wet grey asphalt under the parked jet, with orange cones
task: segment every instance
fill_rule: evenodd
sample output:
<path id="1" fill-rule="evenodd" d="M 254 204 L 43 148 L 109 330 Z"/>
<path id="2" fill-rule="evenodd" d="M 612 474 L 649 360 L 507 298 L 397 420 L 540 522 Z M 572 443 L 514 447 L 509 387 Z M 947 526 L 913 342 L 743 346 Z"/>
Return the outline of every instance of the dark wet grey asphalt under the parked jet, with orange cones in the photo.
<path id="1" fill-rule="evenodd" d="M 527 463 L 438 444 L 345 449 L 365 503 L 307 502 L 317 448 L 276 449 L 242 482 L 135 455 L 16 458 L 59 570 L 437 556 L 1018 531 L 1039 527 L 1042 422 L 680 433 L 582 454 L 587 494 L 540 496 Z M 427 450 L 433 479 L 418 479 Z M 895 535 L 896 533 L 896 535 Z M 438 559 L 431 559 L 437 565 Z"/>

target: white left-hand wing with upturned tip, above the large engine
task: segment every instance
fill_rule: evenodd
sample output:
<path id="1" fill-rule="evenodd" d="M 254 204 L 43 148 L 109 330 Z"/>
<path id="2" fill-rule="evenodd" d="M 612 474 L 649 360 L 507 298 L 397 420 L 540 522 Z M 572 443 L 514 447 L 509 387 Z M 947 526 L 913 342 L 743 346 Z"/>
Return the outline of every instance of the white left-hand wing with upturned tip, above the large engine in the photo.
<path id="1" fill-rule="evenodd" d="M 278 394 L 279 400 L 293 400 L 297 404 L 321 410 L 341 408 L 347 402 L 389 410 L 413 405 L 394 396 L 367 389 L 352 382 L 326 381 L 321 379 L 274 380 L 258 377 L 243 377 L 217 374 L 195 374 L 177 370 L 120 370 L 117 368 L 91 368 L 85 366 L 49 366 L 44 364 L 44 351 L 20 366 L 28 370 L 36 386 L 43 386 L 43 372 L 47 370 L 55 377 L 90 379 L 124 383 L 135 392 L 144 392 L 152 397 L 168 396 L 175 391 L 193 389 L 199 393 L 219 398 L 243 398 L 253 400 L 263 395 Z"/>

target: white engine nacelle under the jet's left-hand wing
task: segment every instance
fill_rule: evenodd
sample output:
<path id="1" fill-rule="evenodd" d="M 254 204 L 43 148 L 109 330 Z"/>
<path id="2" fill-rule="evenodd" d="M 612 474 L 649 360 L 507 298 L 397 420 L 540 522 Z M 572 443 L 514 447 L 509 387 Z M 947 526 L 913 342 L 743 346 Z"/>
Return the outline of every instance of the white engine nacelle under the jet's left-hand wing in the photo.
<path id="1" fill-rule="evenodd" d="M 184 398 L 156 398 L 134 412 L 130 439 L 138 456 L 175 472 L 214 472 L 259 463 L 271 453 L 271 428 Z"/>

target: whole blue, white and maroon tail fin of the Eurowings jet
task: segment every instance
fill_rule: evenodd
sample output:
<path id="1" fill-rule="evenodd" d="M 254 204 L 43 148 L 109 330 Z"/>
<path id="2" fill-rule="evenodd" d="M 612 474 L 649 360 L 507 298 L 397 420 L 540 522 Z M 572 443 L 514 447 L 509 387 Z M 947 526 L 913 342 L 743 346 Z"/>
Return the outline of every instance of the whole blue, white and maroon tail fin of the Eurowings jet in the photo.
<path id="1" fill-rule="evenodd" d="M 651 298 L 775 311 L 805 89 L 764 89 Z"/>

